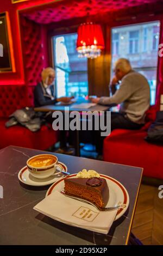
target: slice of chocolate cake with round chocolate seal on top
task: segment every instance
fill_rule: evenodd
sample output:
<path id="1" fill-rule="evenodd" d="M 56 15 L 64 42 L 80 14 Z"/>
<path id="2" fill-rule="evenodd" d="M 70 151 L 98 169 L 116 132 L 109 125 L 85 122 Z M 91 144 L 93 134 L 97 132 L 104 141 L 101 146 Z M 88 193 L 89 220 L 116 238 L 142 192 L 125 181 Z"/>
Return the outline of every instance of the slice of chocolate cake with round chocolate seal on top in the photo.
<path id="1" fill-rule="evenodd" d="M 103 178 L 67 178 L 65 194 L 89 200 L 99 208 L 104 208 L 109 200 L 109 188 Z"/>

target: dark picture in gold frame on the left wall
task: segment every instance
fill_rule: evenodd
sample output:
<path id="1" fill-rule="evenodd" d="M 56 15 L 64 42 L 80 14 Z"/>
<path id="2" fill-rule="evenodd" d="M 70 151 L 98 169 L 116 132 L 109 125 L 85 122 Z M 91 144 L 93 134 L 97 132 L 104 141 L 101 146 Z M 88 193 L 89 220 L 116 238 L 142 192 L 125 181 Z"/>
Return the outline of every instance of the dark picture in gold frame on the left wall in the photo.
<path id="1" fill-rule="evenodd" d="M 0 72 L 15 72 L 15 62 L 8 13 L 0 14 Z"/>

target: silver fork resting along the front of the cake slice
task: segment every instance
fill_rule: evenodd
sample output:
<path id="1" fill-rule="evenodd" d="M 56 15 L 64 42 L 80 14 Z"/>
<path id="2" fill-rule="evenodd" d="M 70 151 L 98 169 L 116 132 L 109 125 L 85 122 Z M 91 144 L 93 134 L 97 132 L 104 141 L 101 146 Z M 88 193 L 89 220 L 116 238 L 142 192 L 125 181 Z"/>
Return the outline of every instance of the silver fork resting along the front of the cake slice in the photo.
<path id="1" fill-rule="evenodd" d="M 96 209 L 98 209 L 99 211 L 113 211 L 113 210 L 116 210 L 116 209 L 119 209 L 119 208 L 126 208 L 126 204 L 118 204 L 117 206 L 100 208 L 96 204 L 94 204 L 92 202 L 89 202 L 86 199 L 67 195 L 67 194 L 65 194 L 65 191 L 60 191 L 60 193 L 64 194 L 65 197 L 70 197 L 70 198 L 76 199 L 76 200 L 78 200 L 80 202 L 91 204 L 91 205 L 95 206 Z"/>

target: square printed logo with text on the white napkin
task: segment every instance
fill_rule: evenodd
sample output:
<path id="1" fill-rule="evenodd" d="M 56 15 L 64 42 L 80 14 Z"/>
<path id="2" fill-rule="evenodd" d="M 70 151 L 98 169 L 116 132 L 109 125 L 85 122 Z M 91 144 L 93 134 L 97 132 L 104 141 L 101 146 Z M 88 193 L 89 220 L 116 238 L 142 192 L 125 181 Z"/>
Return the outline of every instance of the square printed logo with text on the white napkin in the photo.
<path id="1" fill-rule="evenodd" d="M 72 214 L 72 216 L 81 218 L 84 221 L 92 222 L 99 215 L 99 212 L 92 211 L 89 208 L 80 206 L 80 208 Z"/>

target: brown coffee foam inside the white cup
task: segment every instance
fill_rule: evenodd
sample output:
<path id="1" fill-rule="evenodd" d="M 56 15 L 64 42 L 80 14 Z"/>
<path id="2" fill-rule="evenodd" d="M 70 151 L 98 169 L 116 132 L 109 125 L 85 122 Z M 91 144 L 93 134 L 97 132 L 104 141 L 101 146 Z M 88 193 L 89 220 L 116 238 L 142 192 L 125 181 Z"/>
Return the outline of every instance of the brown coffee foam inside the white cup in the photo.
<path id="1" fill-rule="evenodd" d="M 56 160 L 55 156 L 37 156 L 29 160 L 28 164 L 33 167 L 46 167 L 55 163 Z"/>

